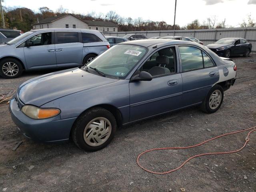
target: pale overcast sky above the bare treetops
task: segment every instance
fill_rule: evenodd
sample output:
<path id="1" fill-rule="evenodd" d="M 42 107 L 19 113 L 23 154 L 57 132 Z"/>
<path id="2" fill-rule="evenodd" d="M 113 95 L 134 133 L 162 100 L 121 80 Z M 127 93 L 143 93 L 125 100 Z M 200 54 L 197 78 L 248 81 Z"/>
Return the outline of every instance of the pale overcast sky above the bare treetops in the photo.
<path id="1" fill-rule="evenodd" d="M 3 5 L 34 11 L 43 6 L 55 11 L 62 5 L 70 12 L 81 14 L 114 10 L 123 17 L 164 20 L 173 24 L 175 0 L 4 0 Z M 218 21 L 226 18 L 228 25 L 239 27 L 248 14 L 256 22 L 256 0 L 177 0 L 176 24 L 184 26 L 195 19 L 202 22 L 207 17 L 216 16 Z"/>

